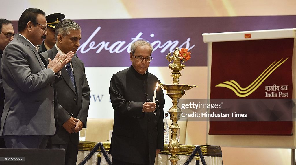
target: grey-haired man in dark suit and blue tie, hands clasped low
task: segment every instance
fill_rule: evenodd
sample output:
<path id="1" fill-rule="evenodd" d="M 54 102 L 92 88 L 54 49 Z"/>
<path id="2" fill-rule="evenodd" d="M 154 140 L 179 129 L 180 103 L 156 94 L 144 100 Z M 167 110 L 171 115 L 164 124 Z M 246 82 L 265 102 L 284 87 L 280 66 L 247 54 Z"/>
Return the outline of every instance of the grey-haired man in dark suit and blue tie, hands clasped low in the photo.
<path id="1" fill-rule="evenodd" d="M 53 59 L 58 52 L 76 53 L 80 46 L 81 28 L 72 20 L 62 20 L 56 25 L 55 38 L 56 45 L 42 53 L 46 59 Z M 57 116 L 58 132 L 55 136 L 49 137 L 46 148 L 64 148 L 65 164 L 76 164 L 79 131 L 86 128 L 90 89 L 84 73 L 84 64 L 78 57 L 72 57 L 71 62 L 67 63 L 61 72 L 61 80 L 56 82 L 56 86 L 58 102 L 63 110 L 59 111 Z"/>

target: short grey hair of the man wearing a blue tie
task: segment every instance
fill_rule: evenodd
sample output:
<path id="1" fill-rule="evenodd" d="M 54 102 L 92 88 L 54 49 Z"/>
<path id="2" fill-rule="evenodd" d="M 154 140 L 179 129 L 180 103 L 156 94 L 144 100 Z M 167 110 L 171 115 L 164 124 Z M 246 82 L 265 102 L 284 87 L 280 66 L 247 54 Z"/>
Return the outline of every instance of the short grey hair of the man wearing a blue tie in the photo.
<path id="1" fill-rule="evenodd" d="M 62 36 L 67 36 L 70 34 L 71 30 L 81 30 L 81 27 L 78 25 L 78 23 L 75 23 L 72 20 L 65 19 L 61 20 L 56 25 L 55 31 L 54 31 L 54 37 L 56 38 L 57 41 L 57 36 L 61 34 Z"/>

